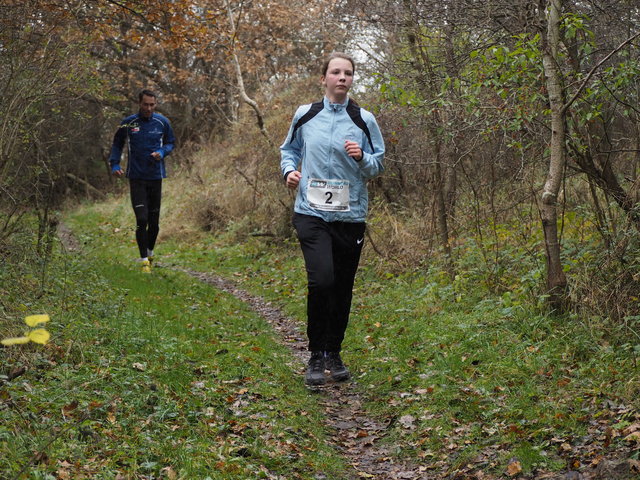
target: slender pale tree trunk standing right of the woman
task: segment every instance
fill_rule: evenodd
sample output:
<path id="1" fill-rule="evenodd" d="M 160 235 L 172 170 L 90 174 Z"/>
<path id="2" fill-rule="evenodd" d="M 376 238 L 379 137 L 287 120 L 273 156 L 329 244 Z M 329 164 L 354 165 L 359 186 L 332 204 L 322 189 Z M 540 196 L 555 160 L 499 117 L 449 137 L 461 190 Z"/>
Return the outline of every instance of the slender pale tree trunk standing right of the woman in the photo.
<path id="1" fill-rule="evenodd" d="M 551 306 L 556 309 L 562 309 L 567 290 L 567 277 L 562 268 L 558 237 L 558 194 L 566 162 L 566 110 L 564 108 L 562 73 L 558 65 L 561 10 L 562 0 L 548 1 L 547 35 L 543 40 L 543 67 L 551 107 L 551 139 L 549 170 L 541 198 L 541 218 L 547 260 L 547 294 Z"/>

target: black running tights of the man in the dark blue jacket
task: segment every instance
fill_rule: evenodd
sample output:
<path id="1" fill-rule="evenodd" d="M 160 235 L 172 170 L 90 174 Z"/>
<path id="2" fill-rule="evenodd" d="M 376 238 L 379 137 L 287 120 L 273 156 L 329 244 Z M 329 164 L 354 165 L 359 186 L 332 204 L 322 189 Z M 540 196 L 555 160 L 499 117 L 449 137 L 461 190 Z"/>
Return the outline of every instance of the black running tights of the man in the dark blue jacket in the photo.
<path id="1" fill-rule="evenodd" d="M 153 250 L 160 231 L 162 180 L 130 179 L 131 205 L 136 214 L 136 242 L 140 258 Z"/>

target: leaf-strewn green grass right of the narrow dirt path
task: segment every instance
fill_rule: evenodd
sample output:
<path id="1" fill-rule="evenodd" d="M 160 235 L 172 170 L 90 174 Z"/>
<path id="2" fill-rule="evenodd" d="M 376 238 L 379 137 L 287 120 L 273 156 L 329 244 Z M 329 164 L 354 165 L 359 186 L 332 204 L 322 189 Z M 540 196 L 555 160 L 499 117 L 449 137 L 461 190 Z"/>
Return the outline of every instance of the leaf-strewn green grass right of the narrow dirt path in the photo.
<path id="1" fill-rule="evenodd" d="M 295 243 L 228 247 L 211 240 L 188 253 L 170 245 L 171 256 L 233 277 L 304 319 Z M 201 252 L 197 261 L 193 247 Z M 625 426 L 625 415 L 638 418 L 636 360 L 614 346 L 607 322 L 545 315 L 510 295 L 454 291 L 440 278 L 387 274 L 366 262 L 360 269 L 345 357 L 370 413 L 391 424 L 389 445 L 418 462 L 444 457 L 449 472 L 469 462 L 503 472 L 516 457 L 531 475 L 569 468 L 572 456 L 585 464 L 626 450 L 624 442 L 595 439 Z M 400 422 L 406 416 L 414 419 L 408 427 Z"/>

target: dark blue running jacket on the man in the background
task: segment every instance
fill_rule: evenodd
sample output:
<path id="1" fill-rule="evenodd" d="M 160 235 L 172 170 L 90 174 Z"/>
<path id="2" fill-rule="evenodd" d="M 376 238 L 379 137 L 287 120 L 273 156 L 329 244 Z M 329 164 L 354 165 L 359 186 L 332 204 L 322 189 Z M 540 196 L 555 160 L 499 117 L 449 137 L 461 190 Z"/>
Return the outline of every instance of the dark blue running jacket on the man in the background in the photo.
<path id="1" fill-rule="evenodd" d="M 127 142 L 128 140 L 128 142 Z M 171 150 L 176 139 L 169 120 L 159 113 L 145 119 L 139 113 L 130 115 L 122 122 L 113 137 L 109 164 L 111 170 L 120 166 L 122 149 L 128 144 L 126 176 L 139 180 L 160 180 L 167 177 L 164 159 Z M 155 160 L 151 154 L 159 152 L 161 160 Z"/>

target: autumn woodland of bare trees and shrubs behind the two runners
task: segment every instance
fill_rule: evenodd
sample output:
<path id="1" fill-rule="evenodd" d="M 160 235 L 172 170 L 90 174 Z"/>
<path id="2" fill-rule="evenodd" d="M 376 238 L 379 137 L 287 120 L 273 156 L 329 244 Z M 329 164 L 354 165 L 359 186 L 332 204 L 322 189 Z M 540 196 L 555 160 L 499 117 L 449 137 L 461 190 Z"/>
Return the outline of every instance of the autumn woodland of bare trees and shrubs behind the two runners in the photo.
<path id="1" fill-rule="evenodd" d="M 291 238 L 278 146 L 342 50 L 387 144 L 368 261 L 598 325 L 635 362 L 639 24 L 632 0 L 5 0 L 0 255 L 41 261 L 60 209 L 124 191 L 107 157 L 141 88 L 178 139 L 162 235 Z"/>

